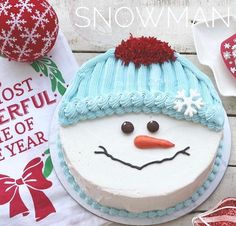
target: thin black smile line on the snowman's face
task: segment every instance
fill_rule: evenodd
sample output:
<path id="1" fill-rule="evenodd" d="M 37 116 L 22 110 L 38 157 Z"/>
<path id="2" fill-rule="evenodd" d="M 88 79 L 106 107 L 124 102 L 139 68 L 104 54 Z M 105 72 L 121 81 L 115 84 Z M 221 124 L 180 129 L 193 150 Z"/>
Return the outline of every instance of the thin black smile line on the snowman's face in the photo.
<path id="1" fill-rule="evenodd" d="M 148 162 L 142 166 L 136 166 L 136 165 L 133 165 L 131 163 L 128 163 L 128 162 L 125 162 L 121 159 L 118 159 L 118 158 L 115 158 L 113 157 L 111 154 L 108 153 L 108 151 L 106 150 L 105 147 L 103 146 L 98 146 L 100 149 L 102 149 L 102 151 L 95 151 L 94 153 L 95 154 L 101 154 L 101 155 L 106 155 L 108 158 L 110 158 L 111 160 L 113 161 L 116 161 L 116 162 L 119 162 L 123 165 L 126 165 L 126 166 L 129 166 L 131 168 L 134 168 L 134 169 L 137 169 L 137 170 L 142 170 L 144 169 L 145 167 L 147 166 L 150 166 L 150 165 L 153 165 L 153 164 L 161 164 L 163 162 L 167 162 L 167 161 L 171 161 L 173 159 L 175 159 L 178 155 L 182 154 L 182 155 L 187 155 L 187 156 L 190 156 L 190 154 L 187 152 L 187 150 L 190 149 L 190 147 L 186 147 L 185 149 L 181 150 L 181 151 L 178 151 L 176 152 L 172 157 L 169 157 L 169 158 L 164 158 L 162 160 L 156 160 L 156 161 L 152 161 L 152 162 Z"/>

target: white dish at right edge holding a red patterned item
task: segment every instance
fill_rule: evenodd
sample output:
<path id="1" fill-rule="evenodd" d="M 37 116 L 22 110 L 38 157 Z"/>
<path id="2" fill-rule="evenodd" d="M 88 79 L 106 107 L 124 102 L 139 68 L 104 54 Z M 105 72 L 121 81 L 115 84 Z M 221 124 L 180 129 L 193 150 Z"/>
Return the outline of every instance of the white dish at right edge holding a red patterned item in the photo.
<path id="1" fill-rule="evenodd" d="M 223 21 L 228 21 L 229 26 Z M 214 23 L 214 26 L 213 26 Z M 217 18 L 214 21 L 198 22 L 193 25 L 193 39 L 197 57 L 201 64 L 209 66 L 222 96 L 236 97 L 236 79 L 226 67 L 221 53 L 221 43 L 236 33 L 236 17 Z"/>

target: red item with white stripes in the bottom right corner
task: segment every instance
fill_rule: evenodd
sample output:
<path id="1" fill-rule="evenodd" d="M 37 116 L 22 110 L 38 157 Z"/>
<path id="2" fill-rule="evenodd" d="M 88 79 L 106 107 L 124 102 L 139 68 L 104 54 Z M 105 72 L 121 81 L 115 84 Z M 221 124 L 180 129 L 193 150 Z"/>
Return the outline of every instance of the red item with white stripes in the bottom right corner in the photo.
<path id="1" fill-rule="evenodd" d="M 194 226 L 236 226 L 236 198 L 226 198 L 192 220 Z"/>

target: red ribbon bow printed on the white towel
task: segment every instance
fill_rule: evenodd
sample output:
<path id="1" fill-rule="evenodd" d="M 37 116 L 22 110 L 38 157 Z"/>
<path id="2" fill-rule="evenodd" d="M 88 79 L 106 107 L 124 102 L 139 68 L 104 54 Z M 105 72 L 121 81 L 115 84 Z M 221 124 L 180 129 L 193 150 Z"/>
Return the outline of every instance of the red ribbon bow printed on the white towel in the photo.
<path id="1" fill-rule="evenodd" d="M 33 199 L 35 218 L 40 221 L 49 214 L 56 212 L 48 197 L 41 191 L 52 186 L 42 174 L 43 162 L 40 158 L 31 160 L 25 167 L 22 177 L 18 180 L 0 174 L 0 205 L 10 202 L 10 217 L 18 214 L 26 216 L 28 208 L 19 193 L 21 185 L 27 186 Z"/>

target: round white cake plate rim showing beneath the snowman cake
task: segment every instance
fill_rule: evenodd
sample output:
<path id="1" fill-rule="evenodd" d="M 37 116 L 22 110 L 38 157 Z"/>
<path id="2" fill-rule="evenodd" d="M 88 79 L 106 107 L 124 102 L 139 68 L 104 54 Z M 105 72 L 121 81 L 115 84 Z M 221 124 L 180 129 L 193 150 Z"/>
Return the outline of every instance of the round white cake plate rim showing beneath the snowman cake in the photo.
<path id="1" fill-rule="evenodd" d="M 127 217 L 119 217 L 119 216 L 111 216 L 106 213 L 102 213 L 100 210 L 96 210 L 87 203 L 79 196 L 78 192 L 76 192 L 71 184 L 67 181 L 67 177 L 64 174 L 63 168 L 60 165 L 60 158 L 58 156 L 59 148 L 58 148 L 58 108 L 55 112 L 55 115 L 53 117 L 52 125 L 51 125 L 51 131 L 50 131 L 50 152 L 52 157 L 52 162 L 54 169 L 56 171 L 56 174 L 61 182 L 61 184 L 64 186 L 65 190 L 69 193 L 69 195 L 76 200 L 82 207 L 84 207 L 86 210 L 90 211 L 91 213 L 104 218 L 106 220 L 121 223 L 121 224 L 128 224 L 128 225 L 153 225 L 153 224 L 161 224 L 168 221 L 175 220 L 181 216 L 184 216 L 191 212 L 192 210 L 196 209 L 199 205 L 201 205 L 205 200 L 208 199 L 208 197 L 214 192 L 214 190 L 219 185 L 221 179 L 224 176 L 224 173 L 227 169 L 229 158 L 230 158 L 230 150 L 231 150 L 231 132 L 229 127 L 229 121 L 225 114 L 225 125 L 224 125 L 224 139 L 223 139 L 223 148 L 222 148 L 222 157 L 221 157 L 221 163 L 219 171 L 215 177 L 215 179 L 211 182 L 209 188 L 204 192 L 202 196 L 198 198 L 197 201 L 192 203 L 189 207 L 186 207 L 182 210 L 176 211 L 170 215 L 166 215 L 163 217 L 154 217 L 154 218 L 127 218 Z"/>

